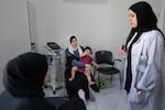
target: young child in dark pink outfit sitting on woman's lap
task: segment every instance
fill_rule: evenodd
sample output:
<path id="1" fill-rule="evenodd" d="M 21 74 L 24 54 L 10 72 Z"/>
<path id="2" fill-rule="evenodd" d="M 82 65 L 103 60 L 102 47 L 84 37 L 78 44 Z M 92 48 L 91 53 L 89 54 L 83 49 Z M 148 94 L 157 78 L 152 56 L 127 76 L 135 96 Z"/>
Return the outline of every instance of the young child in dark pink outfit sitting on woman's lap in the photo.
<path id="1" fill-rule="evenodd" d="M 91 54 L 92 54 L 91 48 L 89 46 L 86 46 L 84 53 L 80 55 L 80 62 L 82 62 L 85 64 L 89 64 L 89 65 L 86 66 L 86 67 L 76 67 L 76 66 L 74 66 L 72 68 L 72 77 L 69 78 L 70 81 L 75 78 L 76 72 L 81 72 L 87 76 L 89 85 L 95 84 L 95 81 L 91 80 L 91 76 L 90 76 L 90 72 L 91 72 L 90 64 L 92 64 L 96 67 L 99 67 L 99 65 L 92 61 Z"/>

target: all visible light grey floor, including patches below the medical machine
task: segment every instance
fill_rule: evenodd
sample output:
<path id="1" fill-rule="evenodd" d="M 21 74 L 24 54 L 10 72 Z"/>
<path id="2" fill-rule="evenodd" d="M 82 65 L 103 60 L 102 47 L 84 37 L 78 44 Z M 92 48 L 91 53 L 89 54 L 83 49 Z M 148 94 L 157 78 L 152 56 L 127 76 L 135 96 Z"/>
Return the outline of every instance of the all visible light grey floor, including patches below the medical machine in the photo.
<path id="1" fill-rule="evenodd" d="M 66 96 L 62 88 L 56 90 L 53 95 L 51 88 L 44 89 L 46 96 Z M 119 88 L 119 81 L 106 81 L 106 88 L 101 89 L 99 94 L 90 89 L 90 99 L 87 101 L 87 110 L 128 110 L 127 95 L 124 90 Z"/>

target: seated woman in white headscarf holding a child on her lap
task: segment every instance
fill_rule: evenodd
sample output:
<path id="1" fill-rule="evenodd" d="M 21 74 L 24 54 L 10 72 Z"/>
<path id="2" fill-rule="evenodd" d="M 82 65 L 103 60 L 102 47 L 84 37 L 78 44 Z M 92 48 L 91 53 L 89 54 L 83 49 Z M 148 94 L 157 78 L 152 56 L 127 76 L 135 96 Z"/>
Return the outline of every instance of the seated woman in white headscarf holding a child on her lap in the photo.
<path id="1" fill-rule="evenodd" d="M 82 53 L 82 47 L 78 46 L 77 37 L 70 36 L 70 46 L 66 48 L 66 70 L 65 70 L 65 81 L 66 81 L 66 90 L 69 98 L 73 97 L 81 97 L 81 94 L 85 94 L 85 99 L 89 99 L 89 88 L 88 88 L 88 80 L 85 74 L 79 72 L 76 73 L 75 78 L 69 81 L 72 77 L 72 67 L 86 67 L 90 66 L 89 64 L 81 63 L 80 54 Z M 91 77 L 94 80 L 94 78 Z M 96 85 L 91 86 L 92 88 L 97 88 Z"/>

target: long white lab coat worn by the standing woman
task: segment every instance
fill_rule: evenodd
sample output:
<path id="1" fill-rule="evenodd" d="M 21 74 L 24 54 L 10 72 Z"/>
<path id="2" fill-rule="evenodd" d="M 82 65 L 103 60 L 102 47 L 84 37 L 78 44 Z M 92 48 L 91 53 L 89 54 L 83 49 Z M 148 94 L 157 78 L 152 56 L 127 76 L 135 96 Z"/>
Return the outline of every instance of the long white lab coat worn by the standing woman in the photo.
<path id="1" fill-rule="evenodd" d="M 158 31 L 143 33 L 133 44 L 131 55 L 132 84 L 128 95 L 130 110 L 165 110 L 162 107 L 165 105 L 163 101 L 165 48 L 162 34 Z M 135 88 L 142 91 L 138 92 Z"/>

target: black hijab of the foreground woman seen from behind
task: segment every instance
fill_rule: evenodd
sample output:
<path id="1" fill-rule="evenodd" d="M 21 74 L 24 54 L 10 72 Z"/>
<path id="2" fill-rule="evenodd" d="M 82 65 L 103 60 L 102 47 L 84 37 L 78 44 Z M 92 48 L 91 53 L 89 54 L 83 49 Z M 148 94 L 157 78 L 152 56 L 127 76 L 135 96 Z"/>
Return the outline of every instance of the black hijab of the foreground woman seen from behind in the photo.
<path id="1" fill-rule="evenodd" d="M 44 97 L 42 86 L 46 72 L 45 55 L 24 53 L 8 62 L 3 84 L 15 97 Z"/>

